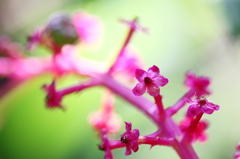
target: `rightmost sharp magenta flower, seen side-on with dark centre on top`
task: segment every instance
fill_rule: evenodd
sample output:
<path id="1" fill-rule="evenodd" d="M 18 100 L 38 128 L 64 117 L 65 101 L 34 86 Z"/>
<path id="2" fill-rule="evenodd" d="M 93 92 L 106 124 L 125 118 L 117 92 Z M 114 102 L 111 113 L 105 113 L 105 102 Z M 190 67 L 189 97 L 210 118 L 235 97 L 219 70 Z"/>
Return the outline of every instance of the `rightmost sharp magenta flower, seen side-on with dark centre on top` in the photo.
<path id="1" fill-rule="evenodd" d="M 203 96 L 197 98 L 196 100 L 187 100 L 187 102 L 190 104 L 187 112 L 191 116 L 196 116 L 201 112 L 212 114 L 220 108 L 218 105 L 208 102 L 208 100 Z"/>

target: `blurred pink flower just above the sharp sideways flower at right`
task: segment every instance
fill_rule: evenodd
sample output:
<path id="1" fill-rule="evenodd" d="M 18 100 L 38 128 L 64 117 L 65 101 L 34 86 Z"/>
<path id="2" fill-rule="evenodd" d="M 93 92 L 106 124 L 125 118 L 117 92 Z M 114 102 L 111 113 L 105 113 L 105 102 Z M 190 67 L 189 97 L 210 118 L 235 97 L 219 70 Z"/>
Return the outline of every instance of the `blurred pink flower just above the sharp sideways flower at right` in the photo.
<path id="1" fill-rule="evenodd" d="M 210 94 L 210 91 L 208 90 L 210 79 L 203 76 L 197 77 L 192 71 L 186 73 L 184 84 L 187 87 L 194 89 L 196 96 L 198 97 L 204 94 Z"/>

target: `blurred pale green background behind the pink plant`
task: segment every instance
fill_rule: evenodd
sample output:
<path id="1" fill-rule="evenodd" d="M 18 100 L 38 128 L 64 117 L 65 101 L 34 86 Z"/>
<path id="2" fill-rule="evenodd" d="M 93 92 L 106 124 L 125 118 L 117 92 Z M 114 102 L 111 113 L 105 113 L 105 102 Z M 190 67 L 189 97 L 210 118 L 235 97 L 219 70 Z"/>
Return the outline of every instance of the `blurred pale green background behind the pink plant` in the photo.
<path id="1" fill-rule="evenodd" d="M 209 140 L 195 143 L 201 159 L 231 159 L 240 141 L 240 1 L 239 0 L 2 0 L 0 34 L 26 44 L 26 36 L 44 24 L 55 11 L 72 13 L 84 9 L 98 15 L 104 24 L 103 44 L 82 55 L 104 61 L 113 48 L 123 42 L 127 28 L 118 18 L 139 16 L 149 34 L 138 33 L 132 44 L 145 61 L 146 68 L 157 65 L 169 79 L 161 92 L 166 107 L 173 105 L 186 91 L 184 74 L 193 70 L 212 79 L 210 100 L 221 106 L 210 122 Z M 39 48 L 35 55 L 45 55 Z M 100 87 L 63 100 L 67 111 L 45 108 L 41 86 L 50 83 L 43 75 L 23 83 L 0 98 L 0 158 L 2 159 L 98 159 L 103 158 L 99 139 L 87 123 L 87 115 L 100 106 Z M 58 87 L 77 83 L 74 76 L 61 78 Z M 1 89 L 1 88 L 0 88 Z M 123 121 L 131 121 L 142 135 L 156 127 L 139 111 L 117 98 L 116 110 Z M 183 118 L 186 109 L 174 119 Z M 119 138 L 121 131 L 113 138 Z M 131 156 L 125 149 L 115 150 L 117 159 L 177 159 L 171 148 L 140 146 Z"/>

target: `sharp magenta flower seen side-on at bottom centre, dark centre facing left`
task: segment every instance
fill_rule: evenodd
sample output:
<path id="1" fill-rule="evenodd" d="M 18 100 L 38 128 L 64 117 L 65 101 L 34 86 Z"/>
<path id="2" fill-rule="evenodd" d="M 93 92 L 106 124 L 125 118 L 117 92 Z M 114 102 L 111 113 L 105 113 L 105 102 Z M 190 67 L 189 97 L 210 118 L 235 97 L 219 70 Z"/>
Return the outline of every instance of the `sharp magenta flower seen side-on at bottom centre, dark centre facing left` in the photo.
<path id="1" fill-rule="evenodd" d="M 132 124 L 130 122 L 125 122 L 126 124 L 126 132 L 121 135 L 121 142 L 126 144 L 126 152 L 125 155 L 131 155 L 133 152 L 138 151 L 138 138 L 139 138 L 139 130 L 134 129 L 132 131 Z"/>

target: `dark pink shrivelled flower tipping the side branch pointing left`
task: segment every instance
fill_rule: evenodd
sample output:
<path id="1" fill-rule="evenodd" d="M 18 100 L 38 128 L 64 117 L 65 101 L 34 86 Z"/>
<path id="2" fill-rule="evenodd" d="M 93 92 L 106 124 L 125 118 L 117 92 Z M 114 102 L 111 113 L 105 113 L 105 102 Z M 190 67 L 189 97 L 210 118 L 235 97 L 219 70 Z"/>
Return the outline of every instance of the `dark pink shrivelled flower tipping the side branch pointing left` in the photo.
<path id="1" fill-rule="evenodd" d="M 53 81 L 49 86 L 44 85 L 43 89 L 47 92 L 46 103 L 48 108 L 62 108 L 61 100 L 62 96 L 57 93 L 55 88 L 55 81 Z"/>

